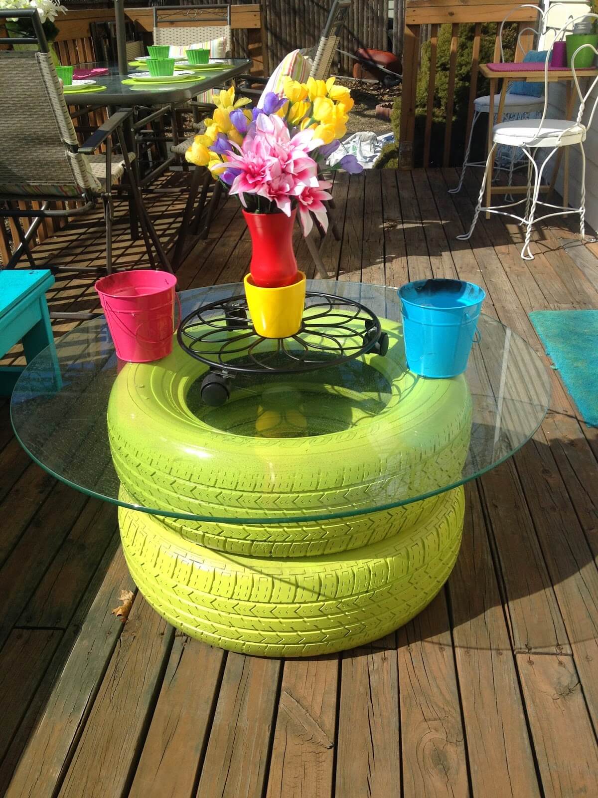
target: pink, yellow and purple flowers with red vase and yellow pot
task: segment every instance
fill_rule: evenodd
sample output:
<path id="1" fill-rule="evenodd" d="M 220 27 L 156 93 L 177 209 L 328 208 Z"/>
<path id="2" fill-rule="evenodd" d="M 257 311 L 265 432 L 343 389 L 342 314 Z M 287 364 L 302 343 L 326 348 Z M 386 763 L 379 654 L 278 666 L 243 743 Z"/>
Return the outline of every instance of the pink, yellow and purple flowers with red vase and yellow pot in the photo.
<path id="1" fill-rule="evenodd" d="M 265 338 L 285 338 L 301 327 L 305 275 L 293 253 L 293 224 L 299 215 L 304 235 L 313 217 L 326 230 L 325 201 L 331 183 L 323 179 L 326 159 L 346 132 L 351 93 L 335 79 L 306 84 L 287 78 L 281 97 L 269 93 L 260 107 L 234 101 L 234 88 L 214 95 L 214 115 L 195 136 L 187 160 L 207 166 L 235 194 L 252 241 L 250 274 L 245 278 L 251 320 Z M 361 172 L 355 156 L 332 169 Z"/>

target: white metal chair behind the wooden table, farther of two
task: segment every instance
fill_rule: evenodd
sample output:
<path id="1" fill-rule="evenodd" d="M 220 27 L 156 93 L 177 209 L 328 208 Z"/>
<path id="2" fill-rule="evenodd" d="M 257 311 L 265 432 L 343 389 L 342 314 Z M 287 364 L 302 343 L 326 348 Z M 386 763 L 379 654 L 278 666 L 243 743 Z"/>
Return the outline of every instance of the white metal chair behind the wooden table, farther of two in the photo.
<path id="1" fill-rule="evenodd" d="M 515 43 L 515 60 L 521 53 L 522 57 L 525 57 L 525 47 L 522 44 L 522 40 L 525 41 L 525 38 L 528 38 L 531 34 L 534 38 L 534 44 L 537 45 L 541 42 L 541 40 L 545 37 L 545 34 L 548 30 L 556 30 L 553 28 L 549 28 L 548 24 L 548 14 L 549 10 L 552 11 L 555 6 L 565 6 L 565 3 L 557 2 L 553 3 L 550 6 L 550 9 L 543 10 L 540 6 L 535 6 L 531 3 L 524 3 L 521 6 L 515 6 L 513 9 L 509 11 L 509 14 L 502 20 L 500 28 L 498 30 L 498 41 L 500 45 L 500 59 L 502 62 L 505 61 L 505 50 L 503 46 L 503 32 L 505 30 L 506 24 L 509 22 L 511 18 L 513 18 L 513 14 L 516 14 L 517 11 L 521 11 L 523 9 L 533 9 L 537 11 L 537 21 L 535 23 L 529 23 L 524 28 L 517 33 L 517 41 Z M 497 111 L 498 106 L 500 103 L 501 95 L 495 94 L 494 95 L 494 119 L 497 118 Z M 525 118 L 529 117 L 531 113 L 541 113 L 541 110 L 544 108 L 544 97 L 530 97 L 529 94 L 514 94 L 514 93 L 506 93 L 505 95 L 505 104 L 504 104 L 504 114 L 507 117 L 519 117 Z M 461 191 L 463 186 L 463 180 L 465 180 L 466 171 L 470 167 L 474 168 L 482 168 L 486 161 L 472 161 L 470 160 L 470 153 L 471 153 L 471 144 L 474 140 L 474 129 L 475 125 L 478 122 L 479 118 L 482 117 L 483 114 L 490 113 L 490 94 L 485 94 L 482 97 L 476 97 L 474 100 L 474 117 L 471 121 L 471 129 L 470 129 L 470 136 L 467 140 L 467 147 L 465 151 L 465 156 L 463 158 L 463 164 L 461 168 L 461 176 L 459 178 L 459 182 L 456 188 L 450 188 L 449 194 L 458 194 Z M 490 123 L 489 123 L 490 124 Z M 509 166 L 506 167 L 503 165 L 504 159 L 500 156 L 498 157 L 498 170 L 504 171 L 506 169 L 509 170 L 509 185 L 511 184 L 513 178 L 513 170 L 515 168 L 515 160 L 516 160 L 517 150 L 511 149 L 509 155 Z"/>

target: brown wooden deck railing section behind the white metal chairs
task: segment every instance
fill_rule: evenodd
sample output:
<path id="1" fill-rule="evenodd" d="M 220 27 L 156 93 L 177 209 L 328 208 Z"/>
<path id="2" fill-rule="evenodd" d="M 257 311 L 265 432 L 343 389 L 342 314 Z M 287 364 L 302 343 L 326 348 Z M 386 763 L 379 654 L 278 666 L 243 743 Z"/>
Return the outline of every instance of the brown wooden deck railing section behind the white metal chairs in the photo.
<path id="1" fill-rule="evenodd" d="M 459 26 L 474 23 L 474 41 L 470 67 L 470 92 L 466 126 L 459 131 L 463 141 L 470 134 L 474 115 L 474 99 L 478 94 L 478 65 L 480 56 L 480 40 L 482 23 L 502 22 L 506 15 L 520 2 L 495 3 L 490 0 L 405 0 L 405 30 L 403 33 L 403 93 L 401 98 L 401 116 L 399 124 L 399 166 L 412 168 L 415 139 L 415 103 L 419 73 L 419 50 L 423 39 L 423 26 L 430 26 L 430 81 L 427 88 L 426 122 L 423 131 L 423 166 L 430 164 L 430 147 L 432 134 L 432 117 L 435 103 L 435 85 L 437 80 L 437 49 L 439 26 L 450 24 L 450 56 L 448 73 L 447 102 L 444 107 L 445 129 L 443 140 L 443 166 L 450 164 L 450 145 L 453 136 L 454 85 L 457 71 Z M 520 29 L 524 23 L 536 19 L 533 9 L 514 11 L 509 22 L 516 22 Z M 426 31 L 427 32 L 427 31 Z M 529 42 L 523 34 L 521 45 L 523 52 L 529 49 Z M 516 61 L 521 60 L 521 49 L 517 49 Z M 494 42 L 494 61 L 500 60 L 500 41 L 497 35 Z"/>

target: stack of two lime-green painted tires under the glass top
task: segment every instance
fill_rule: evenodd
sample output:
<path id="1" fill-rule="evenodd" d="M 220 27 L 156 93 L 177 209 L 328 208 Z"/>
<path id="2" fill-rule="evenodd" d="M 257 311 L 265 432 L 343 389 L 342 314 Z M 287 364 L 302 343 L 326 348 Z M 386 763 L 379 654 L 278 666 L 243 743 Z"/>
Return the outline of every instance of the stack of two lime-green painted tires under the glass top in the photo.
<path id="1" fill-rule="evenodd" d="M 462 377 L 408 373 L 398 326 L 383 326 L 388 354 L 364 359 L 388 395 L 370 413 L 356 391 L 352 417 L 321 435 L 268 437 L 263 415 L 247 434 L 234 405 L 242 389 L 210 423 L 188 401 L 205 367 L 176 344 L 156 364 L 121 371 L 108 432 L 124 554 L 140 591 L 174 626 L 246 654 L 325 654 L 388 634 L 443 586 L 461 542 L 463 492 L 435 492 L 458 482 L 470 395 Z M 309 379 L 314 390 L 351 392 L 317 372 Z M 429 497 L 392 506 L 401 496 Z"/>

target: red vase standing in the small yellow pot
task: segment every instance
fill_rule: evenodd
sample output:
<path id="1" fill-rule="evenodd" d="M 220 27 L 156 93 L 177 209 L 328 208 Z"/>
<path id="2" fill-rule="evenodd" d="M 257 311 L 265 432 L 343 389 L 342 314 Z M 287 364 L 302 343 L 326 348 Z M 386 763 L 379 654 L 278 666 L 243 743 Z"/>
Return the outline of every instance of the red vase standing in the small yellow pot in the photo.
<path id="1" fill-rule="evenodd" d="M 281 288 L 297 282 L 293 252 L 295 213 L 247 213 L 243 211 L 251 235 L 251 277 L 260 288 Z"/>

